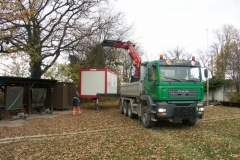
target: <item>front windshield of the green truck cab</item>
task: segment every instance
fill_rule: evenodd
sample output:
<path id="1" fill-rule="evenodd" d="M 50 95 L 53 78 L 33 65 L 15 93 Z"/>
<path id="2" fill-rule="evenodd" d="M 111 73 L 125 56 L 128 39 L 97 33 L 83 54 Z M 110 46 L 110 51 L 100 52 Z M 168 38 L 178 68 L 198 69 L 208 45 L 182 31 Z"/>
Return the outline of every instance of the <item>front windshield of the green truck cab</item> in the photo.
<path id="1" fill-rule="evenodd" d="M 197 66 L 160 66 L 162 81 L 200 81 L 200 68 Z"/>

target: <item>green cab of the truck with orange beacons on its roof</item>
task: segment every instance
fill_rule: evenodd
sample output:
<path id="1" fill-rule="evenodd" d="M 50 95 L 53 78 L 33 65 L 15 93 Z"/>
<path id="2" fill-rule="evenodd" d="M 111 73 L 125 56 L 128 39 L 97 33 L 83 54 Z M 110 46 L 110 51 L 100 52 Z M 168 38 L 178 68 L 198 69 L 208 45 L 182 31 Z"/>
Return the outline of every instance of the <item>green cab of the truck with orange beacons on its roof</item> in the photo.
<path id="1" fill-rule="evenodd" d="M 155 113 L 155 119 L 193 125 L 202 118 L 203 79 L 200 63 L 194 57 L 192 60 L 160 57 L 148 62 L 146 68 L 142 99 Z"/>

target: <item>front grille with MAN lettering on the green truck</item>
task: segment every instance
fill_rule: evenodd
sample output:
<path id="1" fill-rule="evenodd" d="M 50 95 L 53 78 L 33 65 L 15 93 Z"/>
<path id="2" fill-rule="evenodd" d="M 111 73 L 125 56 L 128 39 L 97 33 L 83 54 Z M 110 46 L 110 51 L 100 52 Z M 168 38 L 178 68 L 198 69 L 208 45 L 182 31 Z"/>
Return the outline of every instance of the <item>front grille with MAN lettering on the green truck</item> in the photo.
<path id="1" fill-rule="evenodd" d="M 196 89 L 169 89 L 168 97 L 169 98 L 197 97 L 197 90 Z"/>

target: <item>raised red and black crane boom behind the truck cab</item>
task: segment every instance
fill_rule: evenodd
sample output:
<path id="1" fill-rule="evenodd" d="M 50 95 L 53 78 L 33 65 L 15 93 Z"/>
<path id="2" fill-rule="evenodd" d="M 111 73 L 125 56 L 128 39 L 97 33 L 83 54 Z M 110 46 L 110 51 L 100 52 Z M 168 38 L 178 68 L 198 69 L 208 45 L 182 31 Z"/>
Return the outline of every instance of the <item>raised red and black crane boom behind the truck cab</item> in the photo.
<path id="1" fill-rule="evenodd" d="M 115 48 L 123 48 L 129 50 L 129 55 L 131 56 L 132 60 L 134 61 L 134 66 L 135 66 L 135 76 L 140 75 L 140 64 L 141 64 L 141 59 L 138 56 L 136 50 L 135 50 L 135 45 L 132 44 L 130 41 L 128 42 L 122 42 L 122 41 L 116 41 L 116 40 L 104 40 L 102 43 L 103 46 L 107 47 L 115 47 Z"/>

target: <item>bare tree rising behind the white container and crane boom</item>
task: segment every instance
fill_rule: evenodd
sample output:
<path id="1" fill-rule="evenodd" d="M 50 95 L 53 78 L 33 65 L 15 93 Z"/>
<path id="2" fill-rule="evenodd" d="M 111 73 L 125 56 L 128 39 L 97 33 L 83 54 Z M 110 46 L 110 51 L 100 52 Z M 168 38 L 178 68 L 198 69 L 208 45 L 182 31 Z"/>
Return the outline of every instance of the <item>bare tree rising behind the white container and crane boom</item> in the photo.
<path id="1" fill-rule="evenodd" d="M 71 72 L 78 73 L 80 67 L 105 67 L 118 73 L 122 80 L 122 76 L 125 76 L 122 74 L 125 73 L 122 70 L 127 66 L 125 62 L 130 60 L 129 55 L 124 56 L 128 53 L 123 49 L 103 47 L 101 44 L 104 39 L 128 40 L 132 35 L 133 26 L 127 25 L 124 14 L 115 11 L 114 8 L 101 6 L 97 9 L 95 16 L 98 20 L 93 28 L 94 33 L 85 37 L 74 49 L 69 50 Z M 132 70 L 133 67 L 127 66 L 126 68 Z M 125 77 L 128 77 L 129 80 L 128 75 Z M 75 78 L 74 82 L 77 81 L 78 79 Z"/>

